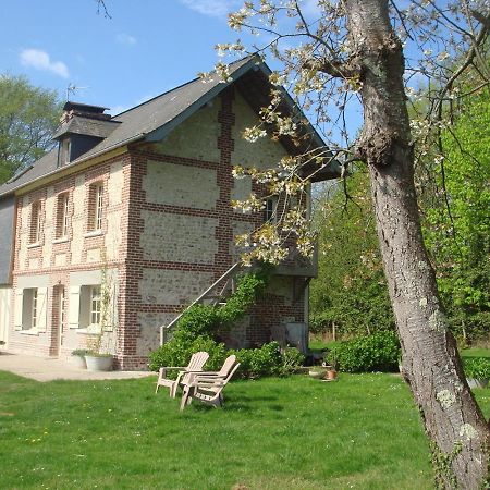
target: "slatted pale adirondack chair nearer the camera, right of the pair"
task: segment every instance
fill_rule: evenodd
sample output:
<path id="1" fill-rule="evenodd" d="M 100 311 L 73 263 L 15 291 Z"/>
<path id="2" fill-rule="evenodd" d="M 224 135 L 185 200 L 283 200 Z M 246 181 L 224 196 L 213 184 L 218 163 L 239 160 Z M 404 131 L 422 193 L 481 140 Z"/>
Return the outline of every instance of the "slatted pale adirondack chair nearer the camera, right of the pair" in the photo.
<path id="1" fill-rule="evenodd" d="M 229 356 L 219 371 L 204 371 L 189 373 L 183 384 L 181 411 L 189 405 L 193 399 L 212 405 L 215 408 L 223 405 L 223 388 L 238 368 L 236 356 Z"/>

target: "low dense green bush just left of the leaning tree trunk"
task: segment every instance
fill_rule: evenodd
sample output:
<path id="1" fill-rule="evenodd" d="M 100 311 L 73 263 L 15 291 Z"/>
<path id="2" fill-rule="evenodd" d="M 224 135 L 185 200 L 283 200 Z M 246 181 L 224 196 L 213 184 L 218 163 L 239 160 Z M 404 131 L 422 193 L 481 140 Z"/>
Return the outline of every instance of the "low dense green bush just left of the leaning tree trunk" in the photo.
<path id="1" fill-rule="evenodd" d="M 400 343 L 396 334 L 381 331 L 334 345 L 327 359 L 345 372 L 396 371 Z"/>

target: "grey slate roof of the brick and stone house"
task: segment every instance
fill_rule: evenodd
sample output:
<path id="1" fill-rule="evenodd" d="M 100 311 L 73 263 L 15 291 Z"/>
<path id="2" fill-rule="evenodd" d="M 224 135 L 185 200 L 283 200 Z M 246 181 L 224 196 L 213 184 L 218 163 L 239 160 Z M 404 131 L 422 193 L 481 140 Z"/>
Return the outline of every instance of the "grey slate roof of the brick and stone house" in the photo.
<path id="1" fill-rule="evenodd" d="M 124 146 L 128 143 L 137 140 L 160 140 L 175 126 L 192 115 L 198 108 L 213 99 L 228 85 L 238 81 L 243 75 L 247 74 L 247 76 L 250 77 L 256 76 L 254 75 L 254 73 L 256 73 L 261 76 L 261 78 L 257 78 L 255 83 L 257 84 L 258 81 L 259 84 L 262 84 L 262 81 L 266 79 L 264 76 L 270 73 L 269 68 L 265 63 L 257 62 L 257 58 L 255 57 L 247 57 L 243 60 L 236 61 L 235 63 L 230 64 L 229 70 L 232 78 L 232 82 L 230 83 L 220 83 L 218 75 L 213 75 L 206 83 L 203 83 L 201 78 L 195 78 L 192 82 L 173 88 L 172 90 L 155 97 L 154 99 L 114 115 L 110 120 L 109 124 L 115 127 L 93 149 L 61 168 L 57 167 L 58 148 L 53 149 L 36 161 L 33 166 L 27 168 L 23 173 L 14 176 L 8 183 L 1 185 L 0 196 L 12 194 L 14 191 L 42 176 L 64 171 L 68 168 L 75 167 L 91 157 L 101 155 L 120 146 Z M 269 90 L 268 86 L 262 85 L 260 88 L 264 93 L 268 93 Z M 294 102 L 289 96 L 286 102 L 293 111 Z M 99 123 L 101 121 L 95 122 Z M 73 124 L 78 124 L 78 122 Z M 109 127 L 106 126 L 105 131 Z M 310 127 L 310 132 L 314 146 L 324 147 L 323 140 L 315 132 L 315 130 L 313 130 L 313 127 Z M 60 132 L 57 132 L 57 134 L 59 135 Z M 334 172 L 330 172 L 333 176 Z"/>

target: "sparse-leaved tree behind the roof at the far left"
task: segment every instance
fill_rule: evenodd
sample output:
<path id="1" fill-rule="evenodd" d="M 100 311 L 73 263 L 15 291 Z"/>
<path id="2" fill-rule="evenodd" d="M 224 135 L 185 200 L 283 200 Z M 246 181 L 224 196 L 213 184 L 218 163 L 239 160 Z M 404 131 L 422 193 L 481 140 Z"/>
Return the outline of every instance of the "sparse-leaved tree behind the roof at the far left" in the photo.
<path id="1" fill-rule="evenodd" d="M 0 183 L 52 148 L 60 114 L 56 91 L 0 75 Z"/>

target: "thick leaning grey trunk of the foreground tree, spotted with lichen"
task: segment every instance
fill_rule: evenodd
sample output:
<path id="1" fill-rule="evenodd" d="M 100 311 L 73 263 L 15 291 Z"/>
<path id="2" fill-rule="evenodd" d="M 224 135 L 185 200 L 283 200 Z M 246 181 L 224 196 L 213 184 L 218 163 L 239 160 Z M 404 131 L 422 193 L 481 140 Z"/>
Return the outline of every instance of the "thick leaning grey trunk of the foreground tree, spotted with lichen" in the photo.
<path id="1" fill-rule="evenodd" d="M 489 427 L 469 390 L 420 230 L 404 59 L 388 0 L 345 0 L 360 68 L 364 128 L 380 249 L 403 373 L 430 439 L 439 487 L 477 489 L 489 477 Z"/>

